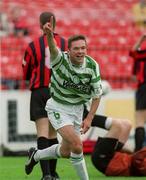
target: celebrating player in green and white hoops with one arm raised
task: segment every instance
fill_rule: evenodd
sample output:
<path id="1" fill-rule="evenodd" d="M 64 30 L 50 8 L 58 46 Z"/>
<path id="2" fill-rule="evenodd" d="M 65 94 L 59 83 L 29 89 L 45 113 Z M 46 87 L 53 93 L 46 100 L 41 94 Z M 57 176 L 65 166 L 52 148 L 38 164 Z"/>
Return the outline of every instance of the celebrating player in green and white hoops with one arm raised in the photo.
<path id="1" fill-rule="evenodd" d="M 53 39 L 52 21 L 44 25 L 51 56 L 51 99 L 46 110 L 49 120 L 62 136 L 62 143 L 44 150 L 31 152 L 25 166 L 27 174 L 39 160 L 70 158 L 78 176 L 88 180 L 88 172 L 83 157 L 80 133 L 86 133 L 98 108 L 102 95 L 99 66 L 87 56 L 87 43 L 83 35 L 72 36 L 68 40 L 68 52 L 61 52 Z M 83 104 L 92 99 L 90 110 L 82 121 Z"/>

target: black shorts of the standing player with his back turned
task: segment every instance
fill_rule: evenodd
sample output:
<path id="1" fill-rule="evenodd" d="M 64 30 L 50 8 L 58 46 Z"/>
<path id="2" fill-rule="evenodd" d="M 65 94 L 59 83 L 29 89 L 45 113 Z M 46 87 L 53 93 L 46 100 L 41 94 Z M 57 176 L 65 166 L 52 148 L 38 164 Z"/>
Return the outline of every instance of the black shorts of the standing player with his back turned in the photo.
<path id="1" fill-rule="evenodd" d="M 47 112 L 45 110 L 46 102 L 50 98 L 48 88 L 39 88 L 32 90 L 30 99 L 30 120 L 35 121 L 39 118 L 45 118 Z"/>

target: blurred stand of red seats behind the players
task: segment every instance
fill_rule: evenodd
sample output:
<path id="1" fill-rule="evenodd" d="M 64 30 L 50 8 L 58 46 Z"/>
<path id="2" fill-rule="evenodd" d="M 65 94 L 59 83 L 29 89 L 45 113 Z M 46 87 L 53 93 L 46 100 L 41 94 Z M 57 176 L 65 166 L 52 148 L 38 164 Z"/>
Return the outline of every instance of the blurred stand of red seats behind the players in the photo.
<path id="1" fill-rule="evenodd" d="M 19 9 L 20 22 L 28 28 L 26 36 L 16 36 L 12 31 L 1 37 L 1 79 L 21 82 L 21 61 L 24 48 L 41 32 L 37 19 L 42 11 L 53 11 L 57 17 L 56 31 L 68 38 L 72 34 L 85 34 L 89 42 L 89 54 L 101 66 L 103 79 L 112 88 L 135 88 L 130 80 L 132 60 L 129 49 L 142 30 L 135 25 L 132 8 L 138 0 L 4 0 L 1 13 L 12 24 L 12 9 Z M 3 81 L 2 81 L 3 82 Z M 19 88 L 24 88 L 19 84 Z M 7 87 L 2 86 L 6 89 Z"/>

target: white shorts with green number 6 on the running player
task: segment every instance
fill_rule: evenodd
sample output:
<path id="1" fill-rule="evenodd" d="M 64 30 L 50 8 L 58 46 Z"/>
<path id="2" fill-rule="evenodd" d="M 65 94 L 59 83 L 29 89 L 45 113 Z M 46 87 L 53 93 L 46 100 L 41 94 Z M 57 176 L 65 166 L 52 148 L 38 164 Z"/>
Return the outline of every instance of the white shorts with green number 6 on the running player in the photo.
<path id="1" fill-rule="evenodd" d="M 80 132 L 83 109 L 83 105 L 64 105 L 52 98 L 47 101 L 45 107 L 48 118 L 55 130 L 66 125 L 73 125 L 77 133 Z"/>

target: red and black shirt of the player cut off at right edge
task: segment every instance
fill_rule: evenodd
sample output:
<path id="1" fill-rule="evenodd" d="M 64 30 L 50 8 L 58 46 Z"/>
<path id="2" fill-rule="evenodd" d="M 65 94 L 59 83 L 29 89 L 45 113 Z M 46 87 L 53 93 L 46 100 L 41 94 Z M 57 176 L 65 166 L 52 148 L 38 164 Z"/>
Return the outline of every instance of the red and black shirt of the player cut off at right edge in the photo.
<path id="1" fill-rule="evenodd" d="M 130 51 L 134 59 L 133 74 L 136 75 L 138 85 L 146 83 L 146 50 Z"/>

